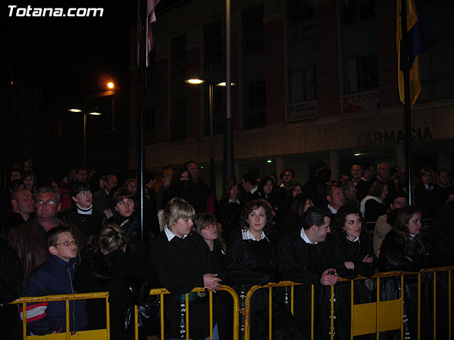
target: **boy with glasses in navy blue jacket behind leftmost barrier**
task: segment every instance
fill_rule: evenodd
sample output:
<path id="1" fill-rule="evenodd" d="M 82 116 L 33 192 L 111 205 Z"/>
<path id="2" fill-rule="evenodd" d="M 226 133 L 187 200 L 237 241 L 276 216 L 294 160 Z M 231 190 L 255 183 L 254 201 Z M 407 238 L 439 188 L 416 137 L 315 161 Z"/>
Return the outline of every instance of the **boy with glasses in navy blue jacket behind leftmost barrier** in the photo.
<path id="1" fill-rule="evenodd" d="M 39 266 L 26 285 L 24 296 L 77 293 L 72 278 L 77 268 L 77 241 L 71 227 L 55 227 L 46 234 L 50 258 Z M 22 312 L 21 312 L 22 317 Z M 27 329 L 33 335 L 66 331 L 65 301 L 37 302 L 27 305 Z M 70 300 L 70 331 L 83 331 L 87 311 L 82 300 Z"/>

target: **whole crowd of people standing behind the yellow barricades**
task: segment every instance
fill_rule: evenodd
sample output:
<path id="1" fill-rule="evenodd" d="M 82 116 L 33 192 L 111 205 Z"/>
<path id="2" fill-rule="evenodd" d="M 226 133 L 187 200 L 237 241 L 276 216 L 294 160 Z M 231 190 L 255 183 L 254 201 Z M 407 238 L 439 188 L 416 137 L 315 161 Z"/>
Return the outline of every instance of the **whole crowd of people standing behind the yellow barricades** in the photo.
<path id="1" fill-rule="evenodd" d="M 408 205 L 406 174 L 387 163 L 353 164 L 334 181 L 328 166 L 316 162 L 304 184 L 294 181 L 292 169 L 262 179 L 243 174 L 239 183 L 226 183 L 219 201 L 192 161 L 144 178 L 145 198 L 139 200 L 136 176 L 121 179 L 79 166 L 62 181 L 41 183 L 32 166 L 11 171 L 1 193 L 0 220 L 0 317 L 10 322 L 2 322 L 0 339 L 21 336 L 23 311 L 4 305 L 20 296 L 104 291 L 111 339 L 133 339 L 122 325 L 124 312 L 146 300 L 150 288 L 170 292 L 166 339 L 186 339 L 185 294 L 196 287 L 217 292 L 211 331 L 214 339 L 231 339 L 233 307 L 228 294 L 218 291 L 221 285 L 236 290 L 244 306 L 251 287 L 282 280 L 305 285 L 294 289 L 293 314 L 289 290 L 273 289 L 272 339 L 309 339 L 311 324 L 316 339 L 329 339 L 331 286 L 335 339 L 350 339 L 352 293 L 350 283 L 339 278 L 454 265 L 454 186 L 448 169 L 419 171 L 414 205 Z M 426 315 L 435 283 L 422 277 L 421 339 L 433 327 L 439 336 L 447 334 L 445 280 L 437 276 L 441 321 L 432 324 Z M 404 287 L 396 278 L 380 285 L 380 300 L 404 295 L 406 339 L 418 335 L 417 284 L 409 276 Z M 355 304 L 375 302 L 376 289 L 373 280 L 356 280 Z M 209 339 L 208 302 L 206 292 L 189 294 L 191 339 Z M 70 331 L 105 328 L 105 308 L 103 300 L 71 301 Z M 65 332 L 65 302 L 29 304 L 26 319 L 30 334 Z M 268 339 L 268 322 L 268 294 L 262 289 L 250 302 L 250 339 Z"/>

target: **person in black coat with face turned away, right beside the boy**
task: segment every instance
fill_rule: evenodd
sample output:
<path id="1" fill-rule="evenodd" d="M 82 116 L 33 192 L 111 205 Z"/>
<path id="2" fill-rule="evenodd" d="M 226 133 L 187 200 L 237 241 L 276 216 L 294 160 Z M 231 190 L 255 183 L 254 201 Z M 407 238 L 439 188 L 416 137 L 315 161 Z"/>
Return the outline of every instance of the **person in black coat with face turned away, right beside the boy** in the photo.
<path id="1" fill-rule="evenodd" d="M 130 293 L 131 285 L 140 296 Z M 113 340 L 134 339 L 134 334 L 121 329 L 123 312 L 131 303 L 145 299 L 155 287 L 155 276 L 148 259 L 135 251 L 126 232 L 118 225 L 107 223 L 101 228 L 97 245 L 87 249 L 74 276 L 79 293 L 109 292 L 110 334 Z M 87 329 L 106 328 L 106 302 L 89 299 Z"/>

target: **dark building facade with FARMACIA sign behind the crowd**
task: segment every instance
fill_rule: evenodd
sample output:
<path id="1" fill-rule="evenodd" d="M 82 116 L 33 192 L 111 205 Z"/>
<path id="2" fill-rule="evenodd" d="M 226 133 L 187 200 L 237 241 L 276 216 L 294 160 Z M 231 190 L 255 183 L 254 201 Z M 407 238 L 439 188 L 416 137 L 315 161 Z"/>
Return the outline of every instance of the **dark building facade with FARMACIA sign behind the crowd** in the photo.
<path id="1" fill-rule="evenodd" d="M 414 167 L 452 169 L 454 3 L 421 4 L 438 43 L 421 55 L 422 90 L 411 113 Z M 395 0 L 233 0 L 231 6 L 238 179 L 248 171 L 259 177 L 291 168 L 304 182 L 316 161 L 330 166 L 333 179 L 351 164 L 406 165 Z M 224 1 L 180 1 L 163 11 L 158 6 L 153 38 L 145 166 L 162 169 L 192 159 L 204 165 L 208 177 L 208 86 L 184 79 L 224 80 Z M 131 67 L 131 84 L 137 72 Z M 214 87 L 218 192 L 224 91 Z M 131 131 L 137 112 L 131 106 Z M 130 136 L 130 169 L 137 168 L 137 136 Z"/>

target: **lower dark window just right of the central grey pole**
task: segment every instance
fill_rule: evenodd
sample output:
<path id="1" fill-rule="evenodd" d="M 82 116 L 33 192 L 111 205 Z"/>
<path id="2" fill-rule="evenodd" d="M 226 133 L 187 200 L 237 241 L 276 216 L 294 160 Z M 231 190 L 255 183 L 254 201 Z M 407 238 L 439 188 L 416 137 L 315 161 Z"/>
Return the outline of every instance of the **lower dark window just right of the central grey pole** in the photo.
<path id="1" fill-rule="evenodd" d="M 253 129 L 266 125 L 265 81 L 245 86 L 244 128 Z"/>

